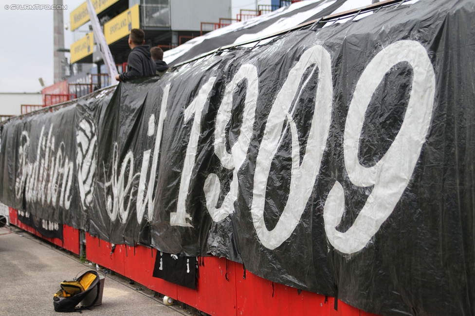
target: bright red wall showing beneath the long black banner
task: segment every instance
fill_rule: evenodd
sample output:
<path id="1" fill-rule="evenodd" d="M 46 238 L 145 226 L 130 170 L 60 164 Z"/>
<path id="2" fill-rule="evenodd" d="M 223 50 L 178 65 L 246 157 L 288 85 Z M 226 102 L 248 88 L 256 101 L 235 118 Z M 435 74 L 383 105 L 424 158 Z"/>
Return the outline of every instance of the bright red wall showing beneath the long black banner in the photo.
<path id="1" fill-rule="evenodd" d="M 10 223 L 79 254 L 79 230 L 63 225 L 63 241 L 46 238 L 19 222 L 13 208 L 10 208 Z M 373 316 L 341 300 L 335 304 L 332 297 L 307 291 L 299 293 L 293 287 L 262 279 L 226 258 L 199 258 L 198 285 L 193 290 L 152 276 L 156 249 L 116 245 L 112 251 L 109 242 L 89 233 L 86 233 L 86 246 L 87 259 L 91 262 L 213 316 Z"/>

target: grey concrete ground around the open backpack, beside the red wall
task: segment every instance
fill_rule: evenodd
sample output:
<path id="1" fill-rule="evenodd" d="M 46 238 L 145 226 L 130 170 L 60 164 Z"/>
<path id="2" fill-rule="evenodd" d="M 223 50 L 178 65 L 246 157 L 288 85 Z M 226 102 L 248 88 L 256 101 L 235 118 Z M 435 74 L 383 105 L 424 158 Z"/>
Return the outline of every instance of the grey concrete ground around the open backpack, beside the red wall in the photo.
<path id="1" fill-rule="evenodd" d="M 62 315 L 54 310 L 53 295 L 62 281 L 73 280 L 86 267 L 91 266 L 30 233 L 14 226 L 0 228 L 0 316 Z M 82 314 L 192 315 L 177 305 L 164 305 L 148 289 L 137 291 L 140 285 L 127 281 L 107 275 L 102 305 Z"/>

